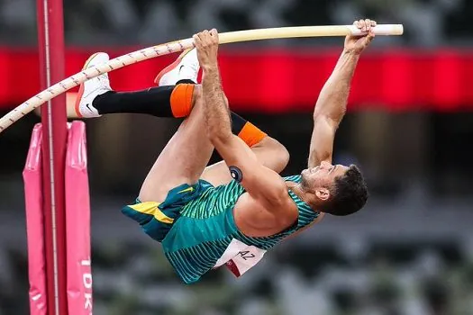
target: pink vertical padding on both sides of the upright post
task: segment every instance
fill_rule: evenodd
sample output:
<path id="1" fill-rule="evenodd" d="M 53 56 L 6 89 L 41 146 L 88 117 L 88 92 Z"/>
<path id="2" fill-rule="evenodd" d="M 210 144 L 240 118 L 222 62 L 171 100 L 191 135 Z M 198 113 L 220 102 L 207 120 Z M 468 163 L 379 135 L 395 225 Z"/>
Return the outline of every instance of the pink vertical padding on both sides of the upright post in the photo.
<path id="1" fill-rule="evenodd" d="M 30 310 L 32 315 L 47 315 L 44 243 L 44 215 L 41 180 L 42 126 L 32 131 L 30 150 L 23 170 L 28 234 Z M 82 121 L 68 123 L 66 155 L 66 254 L 67 315 L 92 314 L 92 267 L 90 253 L 90 199 L 86 157 L 86 126 Z M 66 314 L 64 314 L 66 315 Z"/>

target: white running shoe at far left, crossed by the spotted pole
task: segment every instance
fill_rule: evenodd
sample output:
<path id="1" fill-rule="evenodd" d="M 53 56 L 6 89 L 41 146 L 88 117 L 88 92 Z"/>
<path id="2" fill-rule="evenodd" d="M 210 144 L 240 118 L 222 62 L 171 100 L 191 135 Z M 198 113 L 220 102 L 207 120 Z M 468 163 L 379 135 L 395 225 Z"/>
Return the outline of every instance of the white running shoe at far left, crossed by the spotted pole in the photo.
<path id="1" fill-rule="evenodd" d="M 105 52 L 97 52 L 88 58 L 82 69 L 85 70 L 88 67 L 94 67 L 96 65 L 105 63 L 109 59 L 110 58 Z M 106 73 L 87 80 L 82 85 L 80 85 L 75 105 L 77 117 L 100 117 L 100 114 L 92 105 L 92 102 L 98 95 L 109 91 L 112 91 L 112 88 L 110 87 L 110 81 L 108 79 L 108 74 Z"/>

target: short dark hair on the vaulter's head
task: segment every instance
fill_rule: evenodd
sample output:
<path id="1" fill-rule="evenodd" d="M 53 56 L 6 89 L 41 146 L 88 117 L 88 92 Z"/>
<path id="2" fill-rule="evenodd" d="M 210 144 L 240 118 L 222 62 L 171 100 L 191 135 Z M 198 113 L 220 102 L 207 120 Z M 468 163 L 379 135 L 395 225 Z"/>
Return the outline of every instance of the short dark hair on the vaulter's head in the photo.
<path id="1" fill-rule="evenodd" d="M 357 166 L 351 165 L 344 175 L 335 178 L 332 196 L 322 211 L 345 216 L 359 211 L 368 200 L 368 187 Z"/>

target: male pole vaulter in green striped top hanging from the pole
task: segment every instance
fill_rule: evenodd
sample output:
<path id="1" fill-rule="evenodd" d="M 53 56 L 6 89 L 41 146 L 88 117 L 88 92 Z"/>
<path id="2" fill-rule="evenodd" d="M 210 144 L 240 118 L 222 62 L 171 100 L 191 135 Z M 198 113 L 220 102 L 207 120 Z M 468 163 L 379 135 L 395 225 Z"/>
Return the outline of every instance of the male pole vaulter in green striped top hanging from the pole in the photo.
<path id="1" fill-rule="evenodd" d="M 278 175 L 288 162 L 286 148 L 230 112 L 215 30 L 196 34 L 196 49 L 161 71 L 157 87 L 115 92 L 106 74 L 81 86 L 78 117 L 133 112 L 185 118 L 150 169 L 138 199 L 122 211 L 162 244 L 186 284 L 223 265 L 240 276 L 268 249 L 325 213 L 345 216 L 365 205 L 368 190 L 359 168 L 332 165 L 333 140 L 346 112 L 352 76 L 361 52 L 375 37 L 371 28 L 376 22 L 354 24 L 366 35 L 345 39 L 315 105 L 308 167 L 300 175 Z M 97 53 L 85 67 L 107 60 L 108 55 Z M 199 67 L 203 80 L 196 85 Z M 223 161 L 207 166 L 214 148 Z"/>

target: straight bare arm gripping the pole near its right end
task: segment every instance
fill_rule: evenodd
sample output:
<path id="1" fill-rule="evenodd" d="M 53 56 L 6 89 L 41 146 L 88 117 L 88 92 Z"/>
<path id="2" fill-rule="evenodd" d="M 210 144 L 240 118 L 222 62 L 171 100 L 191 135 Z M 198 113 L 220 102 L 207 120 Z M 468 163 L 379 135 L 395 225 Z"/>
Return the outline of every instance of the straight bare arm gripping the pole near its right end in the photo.
<path id="1" fill-rule="evenodd" d="M 376 22 L 360 20 L 354 24 L 362 31 L 368 31 L 368 35 L 347 36 L 341 57 L 332 75 L 323 85 L 314 109 L 309 167 L 318 166 L 323 161 L 332 163 L 333 140 L 347 110 L 351 79 L 358 64 L 359 55 L 375 36 L 371 27 L 376 26 Z"/>

